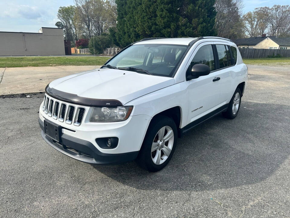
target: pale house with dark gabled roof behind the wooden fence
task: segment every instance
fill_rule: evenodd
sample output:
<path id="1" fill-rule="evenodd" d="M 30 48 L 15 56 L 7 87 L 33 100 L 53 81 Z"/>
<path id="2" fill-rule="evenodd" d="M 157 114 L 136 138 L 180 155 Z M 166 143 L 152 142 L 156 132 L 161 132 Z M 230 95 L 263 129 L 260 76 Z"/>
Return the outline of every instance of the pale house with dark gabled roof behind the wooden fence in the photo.
<path id="1" fill-rule="evenodd" d="M 290 38 L 276 36 L 240 38 L 233 40 L 238 48 L 290 49 Z"/>

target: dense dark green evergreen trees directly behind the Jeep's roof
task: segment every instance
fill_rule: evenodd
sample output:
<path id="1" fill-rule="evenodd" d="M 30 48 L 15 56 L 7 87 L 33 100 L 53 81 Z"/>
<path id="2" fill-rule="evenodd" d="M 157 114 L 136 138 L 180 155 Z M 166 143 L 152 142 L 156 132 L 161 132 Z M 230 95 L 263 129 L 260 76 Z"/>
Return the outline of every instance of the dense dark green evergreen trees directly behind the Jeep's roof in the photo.
<path id="1" fill-rule="evenodd" d="M 215 36 L 214 0 L 116 0 L 116 41 L 123 47 L 142 38 Z"/>

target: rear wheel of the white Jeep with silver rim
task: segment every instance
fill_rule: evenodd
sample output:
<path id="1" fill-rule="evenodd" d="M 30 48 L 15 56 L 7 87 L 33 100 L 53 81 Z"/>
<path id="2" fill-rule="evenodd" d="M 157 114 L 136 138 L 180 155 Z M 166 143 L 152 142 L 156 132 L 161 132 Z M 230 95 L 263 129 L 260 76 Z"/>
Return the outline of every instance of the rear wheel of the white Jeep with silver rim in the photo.
<path id="1" fill-rule="evenodd" d="M 234 119 L 237 117 L 241 106 L 241 96 L 241 90 L 240 88 L 237 88 L 230 100 L 227 111 L 222 113 L 224 117 L 228 119 Z"/>

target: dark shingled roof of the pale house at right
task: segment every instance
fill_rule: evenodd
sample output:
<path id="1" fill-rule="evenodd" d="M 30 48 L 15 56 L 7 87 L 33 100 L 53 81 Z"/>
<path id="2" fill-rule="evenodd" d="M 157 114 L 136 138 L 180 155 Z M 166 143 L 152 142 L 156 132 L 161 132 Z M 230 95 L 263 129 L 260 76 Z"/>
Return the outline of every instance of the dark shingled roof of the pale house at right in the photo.
<path id="1" fill-rule="evenodd" d="M 233 41 L 236 45 L 257 45 L 259 42 L 263 41 L 265 38 L 268 37 L 280 46 L 290 46 L 290 38 L 278 38 L 276 36 L 239 38 Z"/>

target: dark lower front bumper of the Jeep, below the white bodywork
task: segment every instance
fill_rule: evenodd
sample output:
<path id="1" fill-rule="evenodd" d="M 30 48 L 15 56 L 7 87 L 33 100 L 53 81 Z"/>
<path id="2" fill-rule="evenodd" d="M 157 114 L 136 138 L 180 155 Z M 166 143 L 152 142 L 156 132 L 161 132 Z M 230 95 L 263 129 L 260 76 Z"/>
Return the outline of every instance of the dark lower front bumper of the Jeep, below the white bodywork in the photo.
<path id="1" fill-rule="evenodd" d="M 139 151 L 121 154 L 108 154 L 99 151 L 91 142 L 67 134 L 61 134 L 61 144 L 53 141 L 44 133 L 44 123 L 38 119 L 43 139 L 53 148 L 76 160 L 93 164 L 118 164 L 136 159 Z"/>

